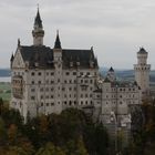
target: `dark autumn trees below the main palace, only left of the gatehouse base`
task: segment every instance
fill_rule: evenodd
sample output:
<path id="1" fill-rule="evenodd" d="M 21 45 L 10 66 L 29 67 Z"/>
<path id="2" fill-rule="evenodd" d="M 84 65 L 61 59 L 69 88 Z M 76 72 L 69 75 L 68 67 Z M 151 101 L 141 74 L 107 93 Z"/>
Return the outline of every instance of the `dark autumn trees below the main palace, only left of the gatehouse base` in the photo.
<path id="1" fill-rule="evenodd" d="M 106 155 L 108 136 L 82 111 L 40 115 L 23 124 L 18 111 L 0 106 L 0 155 Z"/>

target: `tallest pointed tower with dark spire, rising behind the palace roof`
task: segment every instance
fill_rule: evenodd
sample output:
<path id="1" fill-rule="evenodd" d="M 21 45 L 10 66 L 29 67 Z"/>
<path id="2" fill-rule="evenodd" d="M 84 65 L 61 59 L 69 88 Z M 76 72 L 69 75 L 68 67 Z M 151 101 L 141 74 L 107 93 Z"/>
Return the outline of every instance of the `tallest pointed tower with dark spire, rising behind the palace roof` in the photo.
<path id="1" fill-rule="evenodd" d="M 38 6 L 37 17 L 34 19 L 32 35 L 33 35 L 33 45 L 43 45 L 44 30 L 40 17 L 39 6 Z"/>

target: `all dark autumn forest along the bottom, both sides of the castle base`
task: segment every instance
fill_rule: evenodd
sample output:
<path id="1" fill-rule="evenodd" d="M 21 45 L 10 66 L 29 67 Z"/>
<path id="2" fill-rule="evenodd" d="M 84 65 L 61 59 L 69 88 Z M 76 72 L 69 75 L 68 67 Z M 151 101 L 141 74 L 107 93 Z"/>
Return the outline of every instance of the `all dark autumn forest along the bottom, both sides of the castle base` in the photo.
<path id="1" fill-rule="evenodd" d="M 155 102 L 144 102 L 141 108 L 144 121 L 128 147 L 120 148 L 121 155 L 155 154 Z M 113 155 L 114 149 L 103 124 L 93 123 L 83 111 L 28 116 L 24 124 L 0 99 L 0 155 Z"/>

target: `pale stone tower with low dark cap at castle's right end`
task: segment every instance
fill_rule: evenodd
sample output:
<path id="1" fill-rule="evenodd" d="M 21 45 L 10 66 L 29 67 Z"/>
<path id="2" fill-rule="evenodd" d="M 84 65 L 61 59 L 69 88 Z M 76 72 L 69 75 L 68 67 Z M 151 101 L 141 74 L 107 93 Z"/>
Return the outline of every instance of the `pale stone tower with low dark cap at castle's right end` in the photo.
<path id="1" fill-rule="evenodd" d="M 144 48 L 141 48 L 137 52 L 137 64 L 134 64 L 135 81 L 141 86 L 143 93 L 149 90 L 149 70 L 151 64 L 147 64 L 148 53 Z"/>

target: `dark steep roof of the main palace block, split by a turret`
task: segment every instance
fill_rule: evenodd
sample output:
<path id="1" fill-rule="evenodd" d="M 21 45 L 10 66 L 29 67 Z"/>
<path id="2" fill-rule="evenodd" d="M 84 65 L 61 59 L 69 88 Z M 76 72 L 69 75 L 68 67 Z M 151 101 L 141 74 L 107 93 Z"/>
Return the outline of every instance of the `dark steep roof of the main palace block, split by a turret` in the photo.
<path id="1" fill-rule="evenodd" d="M 38 63 L 38 68 L 54 68 L 53 49 L 49 46 L 21 45 L 20 52 L 23 61 L 29 62 L 30 68 L 35 68 L 35 63 Z M 94 68 L 97 68 L 97 60 L 94 58 L 94 53 L 92 50 L 62 49 L 63 68 L 71 68 L 72 62 L 72 68 L 79 66 L 87 69 L 90 68 L 90 58 L 91 61 L 93 61 Z M 78 65 L 76 62 L 79 62 L 80 64 Z"/>

